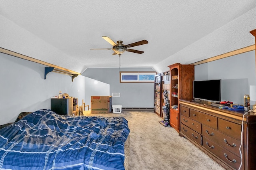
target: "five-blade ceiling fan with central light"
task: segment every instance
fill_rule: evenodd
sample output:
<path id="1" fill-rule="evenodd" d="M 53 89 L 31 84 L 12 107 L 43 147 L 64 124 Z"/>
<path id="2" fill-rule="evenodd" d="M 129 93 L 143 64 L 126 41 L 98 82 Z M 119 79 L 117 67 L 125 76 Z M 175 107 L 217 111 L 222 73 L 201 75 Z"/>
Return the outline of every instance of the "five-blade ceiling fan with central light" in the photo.
<path id="1" fill-rule="evenodd" d="M 112 49 L 114 51 L 114 53 L 112 55 L 118 54 L 119 57 L 122 53 L 124 53 L 124 51 L 129 51 L 129 52 L 132 52 L 132 53 L 142 54 L 142 53 L 144 53 L 144 51 L 138 51 L 138 50 L 135 50 L 135 49 L 130 49 L 130 47 L 135 47 L 135 46 L 138 46 L 138 45 L 143 45 L 143 44 L 148 43 L 147 40 L 142 40 L 142 41 L 139 41 L 139 42 L 124 45 L 124 44 L 122 44 L 123 41 L 120 41 L 120 40 L 117 41 L 117 43 L 115 43 L 109 37 L 103 36 L 102 38 L 104 40 L 106 40 L 108 43 L 110 43 L 113 47 L 112 48 L 91 48 L 91 49 Z"/>

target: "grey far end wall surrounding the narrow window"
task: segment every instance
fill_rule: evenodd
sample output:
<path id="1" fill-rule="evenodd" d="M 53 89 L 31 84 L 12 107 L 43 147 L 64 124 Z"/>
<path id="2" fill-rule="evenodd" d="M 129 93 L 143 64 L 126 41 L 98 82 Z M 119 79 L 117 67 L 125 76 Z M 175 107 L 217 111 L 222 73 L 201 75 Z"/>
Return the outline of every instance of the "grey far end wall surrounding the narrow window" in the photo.
<path id="1" fill-rule="evenodd" d="M 169 69 L 166 68 L 166 71 Z M 110 85 L 110 95 L 120 93 L 120 97 L 112 97 L 113 105 L 123 108 L 154 108 L 153 83 L 120 83 L 119 71 L 154 71 L 150 67 L 132 68 L 88 68 L 82 75 L 102 81 Z"/>

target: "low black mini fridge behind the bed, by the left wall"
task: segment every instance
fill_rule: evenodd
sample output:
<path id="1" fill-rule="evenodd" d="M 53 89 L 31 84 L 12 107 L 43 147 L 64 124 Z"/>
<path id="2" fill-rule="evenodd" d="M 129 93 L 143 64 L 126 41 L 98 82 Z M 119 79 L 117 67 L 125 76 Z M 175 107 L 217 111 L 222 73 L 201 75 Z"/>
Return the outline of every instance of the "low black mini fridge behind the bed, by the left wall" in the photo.
<path id="1" fill-rule="evenodd" d="M 73 112 L 73 98 L 51 98 L 51 110 L 58 115 L 72 115 Z"/>

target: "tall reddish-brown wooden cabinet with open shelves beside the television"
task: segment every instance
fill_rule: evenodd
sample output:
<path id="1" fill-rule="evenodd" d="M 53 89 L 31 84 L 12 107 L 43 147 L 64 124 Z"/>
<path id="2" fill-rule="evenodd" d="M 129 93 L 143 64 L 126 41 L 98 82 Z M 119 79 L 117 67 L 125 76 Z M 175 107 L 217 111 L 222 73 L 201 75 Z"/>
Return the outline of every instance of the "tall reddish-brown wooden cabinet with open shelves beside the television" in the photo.
<path id="1" fill-rule="evenodd" d="M 179 99 L 193 98 L 194 65 L 175 63 L 170 68 L 170 126 L 180 131 Z"/>

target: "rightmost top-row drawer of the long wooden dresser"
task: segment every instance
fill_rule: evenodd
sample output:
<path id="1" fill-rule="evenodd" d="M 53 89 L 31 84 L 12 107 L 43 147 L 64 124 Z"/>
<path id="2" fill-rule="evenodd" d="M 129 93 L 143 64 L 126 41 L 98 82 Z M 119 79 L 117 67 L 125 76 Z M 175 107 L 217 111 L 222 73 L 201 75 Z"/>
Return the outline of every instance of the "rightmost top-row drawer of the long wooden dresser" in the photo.
<path id="1" fill-rule="evenodd" d="M 230 137 L 240 140 L 242 126 L 224 119 L 218 119 L 219 130 Z"/>

